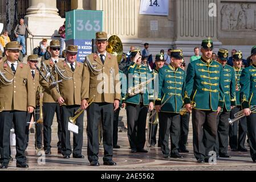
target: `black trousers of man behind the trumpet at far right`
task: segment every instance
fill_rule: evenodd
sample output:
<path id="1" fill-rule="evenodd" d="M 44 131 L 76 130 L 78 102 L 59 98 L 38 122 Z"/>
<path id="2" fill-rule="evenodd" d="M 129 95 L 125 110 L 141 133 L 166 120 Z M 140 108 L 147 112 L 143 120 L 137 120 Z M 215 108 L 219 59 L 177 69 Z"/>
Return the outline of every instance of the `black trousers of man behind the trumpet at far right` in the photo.
<path id="1" fill-rule="evenodd" d="M 234 114 L 241 110 L 241 106 L 234 107 L 230 111 L 230 119 L 234 119 Z M 238 130 L 238 131 L 237 131 Z M 238 138 L 237 138 L 238 132 Z M 229 146 L 232 149 L 245 148 L 245 139 L 247 133 L 246 117 L 239 119 L 239 122 L 234 122 L 229 126 Z"/>

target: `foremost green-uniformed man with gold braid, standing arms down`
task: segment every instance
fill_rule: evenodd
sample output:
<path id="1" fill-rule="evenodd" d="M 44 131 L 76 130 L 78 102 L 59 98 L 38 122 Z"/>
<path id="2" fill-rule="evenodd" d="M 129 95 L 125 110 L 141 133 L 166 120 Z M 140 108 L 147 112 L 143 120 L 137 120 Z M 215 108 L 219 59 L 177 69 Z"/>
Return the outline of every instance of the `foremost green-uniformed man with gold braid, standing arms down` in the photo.
<path id="1" fill-rule="evenodd" d="M 184 104 L 192 111 L 193 148 L 198 163 L 208 162 L 216 142 L 216 118 L 224 105 L 222 65 L 212 61 L 212 40 L 202 40 L 202 56 L 188 65 Z M 190 102 L 196 106 L 192 110 Z"/>

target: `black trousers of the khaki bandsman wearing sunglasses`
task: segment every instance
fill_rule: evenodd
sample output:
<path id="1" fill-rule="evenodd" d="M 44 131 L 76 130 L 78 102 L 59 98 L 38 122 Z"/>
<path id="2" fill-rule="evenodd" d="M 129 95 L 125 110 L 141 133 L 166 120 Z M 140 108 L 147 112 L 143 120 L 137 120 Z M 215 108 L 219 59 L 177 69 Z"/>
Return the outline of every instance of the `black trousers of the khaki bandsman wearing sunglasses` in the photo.
<path id="1" fill-rule="evenodd" d="M 58 150 L 61 148 L 62 139 L 62 121 L 60 117 L 60 106 L 58 103 L 43 103 L 43 148 L 44 150 L 51 149 L 51 125 L 56 112 L 58 122 Z"/>

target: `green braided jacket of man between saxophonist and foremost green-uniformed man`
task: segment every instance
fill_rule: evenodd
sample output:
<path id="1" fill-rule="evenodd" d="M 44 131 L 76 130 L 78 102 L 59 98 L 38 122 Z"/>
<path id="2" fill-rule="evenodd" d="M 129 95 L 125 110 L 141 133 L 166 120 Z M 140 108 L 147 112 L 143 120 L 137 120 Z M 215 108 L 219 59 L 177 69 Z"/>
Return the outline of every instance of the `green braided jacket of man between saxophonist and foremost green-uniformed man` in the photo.
<path id="1" fill-rule="evenodd" d="M 161 105 L 161 112 L 180 113 L 183 105 L 186 73 L 183 69 L 175 69 L 168 65 L 159 69 L 159 97 L 156 105 Z M 161 101 L 161 102 L 159 102 Z"/>

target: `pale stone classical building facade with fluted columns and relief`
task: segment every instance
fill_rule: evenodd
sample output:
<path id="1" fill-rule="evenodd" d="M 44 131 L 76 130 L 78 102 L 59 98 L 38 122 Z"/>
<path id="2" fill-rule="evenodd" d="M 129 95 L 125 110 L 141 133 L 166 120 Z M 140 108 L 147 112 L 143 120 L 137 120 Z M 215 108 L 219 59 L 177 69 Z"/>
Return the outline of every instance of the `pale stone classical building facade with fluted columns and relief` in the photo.
<path id="1" fill-rule="evenodd" d="M 27 6 L 26 22 L 36 35 L 34 39 L 27 38 L 28 52 L 43 37 L 58 38 L 58 28 L 64 22 L 64 12 L 74 9 L 103 10 L 103 30 L 109 36 L 115 34 L 121 38 L 124 52 L 131 45 L 143 49 L 143 44 L 148 42 L 153 55 L 159 53 L 160 49 L 166 51 L 170 47 L 177 47 L 182 48 L 184 55 L 189 57 L 193 55 L 193 48 L 201 45 L 202 39 L 210 37 L 214 40 L 214 52 L 219 47 L 230 51 L 235 48 L 249 56 L 250 48 L 256 42 L 255 0 L 169 0 L 168 16 L 140 15 L 139 0 L 22 2 L 23 6 Z M 1 18 L 6 24 L 3 14 L 0 22 Z M 155 26 L 157 24 L 157 28 L 152 29 L 152 23 Z"/>

